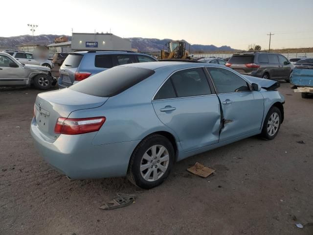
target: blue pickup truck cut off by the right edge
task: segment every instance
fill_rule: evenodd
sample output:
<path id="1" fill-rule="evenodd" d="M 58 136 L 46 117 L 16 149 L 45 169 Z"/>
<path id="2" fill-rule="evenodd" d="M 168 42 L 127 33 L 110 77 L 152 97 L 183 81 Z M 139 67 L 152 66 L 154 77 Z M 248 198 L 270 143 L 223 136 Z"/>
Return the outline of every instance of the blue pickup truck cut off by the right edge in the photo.
<path id="1" fill-rule="evenodd" d="M 297 62 L 291 73 L 290 83 L 294 92 L 300 92 L 302 98 L 309 98 L 313 94 L 313 63 Z"/>

